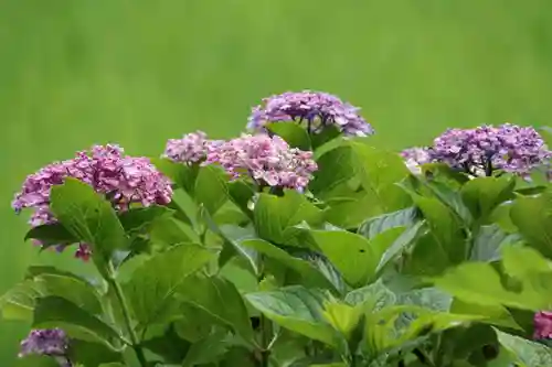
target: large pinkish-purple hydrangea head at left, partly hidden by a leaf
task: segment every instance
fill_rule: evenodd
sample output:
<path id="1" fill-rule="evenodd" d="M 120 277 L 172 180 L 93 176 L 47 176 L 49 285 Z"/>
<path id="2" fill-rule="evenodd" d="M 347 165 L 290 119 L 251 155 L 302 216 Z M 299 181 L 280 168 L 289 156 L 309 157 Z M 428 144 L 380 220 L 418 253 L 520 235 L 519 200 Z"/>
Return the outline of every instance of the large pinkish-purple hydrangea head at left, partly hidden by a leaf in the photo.
<path id="1" fill-rule="evenodd" d="M 77 179 L 105 194 L 119 212 L 132 204 L 166 205 L 172 197 L 170 181 L 147 158 L 128 156 L 118 145 L 107 144 L 94 145 L 91 151 L 77 152 L 72 160 L 52 163 L 29 175 L 21 192 L 15 194 L 13 209 L 17 213 L 33 209 L 30 219 L 33 227 L 55 223 L 49 207 L 50 191 L 66 177 Z M 86 260 L 89 253 L 88 246 L 81 244 L 76 257 Z"/>

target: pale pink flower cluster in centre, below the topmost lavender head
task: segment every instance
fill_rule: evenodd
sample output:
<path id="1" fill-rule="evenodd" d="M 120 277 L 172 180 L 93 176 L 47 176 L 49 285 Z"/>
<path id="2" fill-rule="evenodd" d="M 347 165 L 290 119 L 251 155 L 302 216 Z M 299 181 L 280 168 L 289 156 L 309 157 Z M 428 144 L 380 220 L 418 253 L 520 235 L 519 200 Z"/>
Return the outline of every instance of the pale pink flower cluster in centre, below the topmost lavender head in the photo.
<path id="1" fill-rule="evenodd" d="M 262 186 L 301 191 L 312 177 L 317 164 L 312 152 L 290 148 L 279 137 L 243 134 L 211 145 L 204 164 L 220 164 L 233 180 L 251 176 Z"/>

